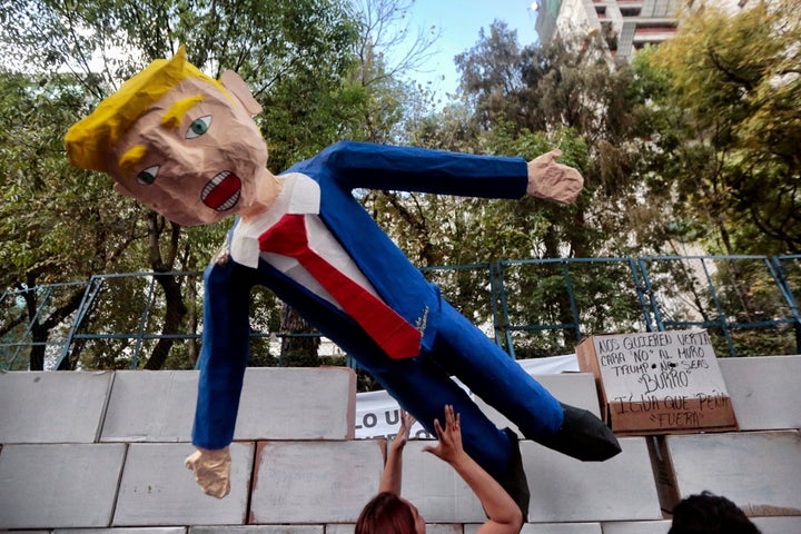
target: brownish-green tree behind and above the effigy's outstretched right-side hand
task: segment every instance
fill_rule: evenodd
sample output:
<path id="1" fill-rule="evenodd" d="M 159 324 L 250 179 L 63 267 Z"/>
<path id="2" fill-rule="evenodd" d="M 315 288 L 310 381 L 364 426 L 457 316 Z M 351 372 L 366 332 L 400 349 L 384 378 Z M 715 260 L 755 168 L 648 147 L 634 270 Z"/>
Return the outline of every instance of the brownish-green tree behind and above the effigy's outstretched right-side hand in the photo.
<path id="1" fill-rule="evenodd" d="M 456 60 L 462 90 L 479 126 L 511 139 L 547 132 L 550 148 L 568 139 L 557 135 L 561 131 L 572 131 L 585 142 L 581 215 L 571 214 L 575 220 L 566 224 L 554 220 L 553 228 L 565 233 L 547 240 L 547 257 L 558 257 L 560 241 L 584 257 L 631 251 L 631 222 L 642 212 L 653 126 L 632 70 L 610 61 L 597 34 L 567 34 L 548 46 L 521 49 L 515 32 L 495 21 L 490 34 L 482 36 Z"/>

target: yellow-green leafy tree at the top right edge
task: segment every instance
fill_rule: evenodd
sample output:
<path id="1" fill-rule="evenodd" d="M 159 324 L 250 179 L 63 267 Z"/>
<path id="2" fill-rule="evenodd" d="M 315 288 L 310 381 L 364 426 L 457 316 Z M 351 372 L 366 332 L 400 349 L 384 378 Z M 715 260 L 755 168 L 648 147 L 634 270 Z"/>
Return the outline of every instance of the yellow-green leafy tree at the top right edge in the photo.
<path id="1" fill-rule="evenodd" d="M 661 103 L 681 110 L 665 178 L 725 254 L 801 250 L 799 8 L 703 7 L 652 58 L 672 83 Z"/>

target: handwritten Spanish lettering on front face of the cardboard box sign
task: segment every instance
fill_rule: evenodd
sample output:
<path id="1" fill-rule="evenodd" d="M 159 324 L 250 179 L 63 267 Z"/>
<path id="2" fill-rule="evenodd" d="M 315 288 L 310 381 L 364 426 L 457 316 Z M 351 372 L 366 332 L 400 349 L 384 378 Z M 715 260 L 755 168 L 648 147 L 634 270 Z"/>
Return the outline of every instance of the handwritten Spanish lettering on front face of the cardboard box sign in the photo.
<path id="1" fill-rule="evenodd" d="M 606 399 L 619 415 L 654 426 L 701 427 L 704 413 L 730 409 L 705 330 L 597 336 L 593 339 Z"/>

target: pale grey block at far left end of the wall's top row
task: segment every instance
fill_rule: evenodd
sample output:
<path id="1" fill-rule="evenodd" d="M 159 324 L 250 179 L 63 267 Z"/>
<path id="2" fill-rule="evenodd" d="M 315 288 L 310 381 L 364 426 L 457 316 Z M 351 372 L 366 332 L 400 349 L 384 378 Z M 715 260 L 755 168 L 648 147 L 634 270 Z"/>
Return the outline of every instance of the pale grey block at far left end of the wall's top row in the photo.
<path id="1" fill-rule="evenodd" d="M 93 443 L 113 373 L 0 373 L 0 443 Z"/>

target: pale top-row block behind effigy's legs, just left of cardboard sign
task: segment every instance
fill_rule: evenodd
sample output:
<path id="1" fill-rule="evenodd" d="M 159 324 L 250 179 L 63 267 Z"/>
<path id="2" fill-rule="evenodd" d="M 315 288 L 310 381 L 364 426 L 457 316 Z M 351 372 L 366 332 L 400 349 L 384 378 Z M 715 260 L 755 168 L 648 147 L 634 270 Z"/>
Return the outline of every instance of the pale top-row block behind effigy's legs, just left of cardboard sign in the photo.
<path id="1" fill-rule="evenodd" d="M 532 375 L 551 395 L 557 400 L 570 404 L 577 408 L 592 412 L 601 417 L 599 406 L 597 388 L 595 386 L 595 377 L 592 373 L 562 373 L 558 375 Z M 498 428 L 513 428 L 522 436 L 517 427 L 513 425 L 505 416 L 501 415 L 495 408 L 486 404 L 481 398 L 476 398 L 476 404 L 482 412 L 495 423 Z"/>

